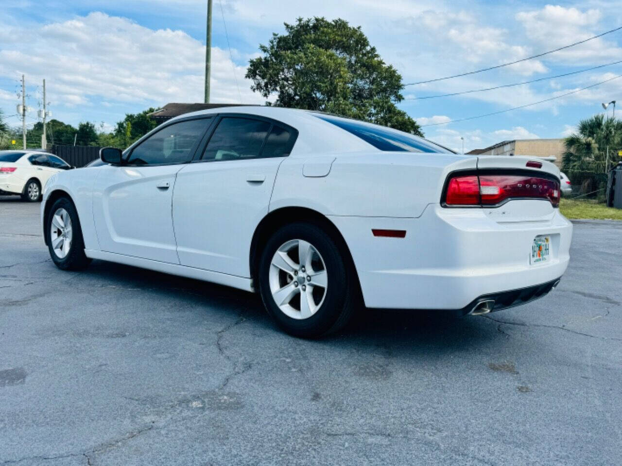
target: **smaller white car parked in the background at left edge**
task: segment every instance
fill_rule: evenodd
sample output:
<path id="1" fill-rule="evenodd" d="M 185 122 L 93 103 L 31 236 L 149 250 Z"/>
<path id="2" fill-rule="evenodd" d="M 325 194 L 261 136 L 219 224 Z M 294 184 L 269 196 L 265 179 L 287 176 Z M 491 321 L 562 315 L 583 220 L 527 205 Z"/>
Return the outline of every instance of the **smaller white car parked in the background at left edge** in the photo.
<path id="1" fill-rule="evenodd" d="M 70 168 L 62 158 L 47 152 L 0 150 L 0 194 L 19 194 L 25 201 L 40 201 L 50 176 Z"/>

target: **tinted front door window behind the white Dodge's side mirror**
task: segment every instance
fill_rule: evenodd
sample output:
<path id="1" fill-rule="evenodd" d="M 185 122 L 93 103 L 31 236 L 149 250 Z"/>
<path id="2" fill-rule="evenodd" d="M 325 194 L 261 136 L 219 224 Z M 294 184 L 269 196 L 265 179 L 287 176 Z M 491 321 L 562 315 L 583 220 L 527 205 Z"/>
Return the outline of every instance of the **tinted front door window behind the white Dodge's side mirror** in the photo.
<path id="1" fill-rule="evenodd" d="M 194 149 L 209 124 L 209 118 L 200 118 L 164 127 L 137 145 L 132 150 L 128 163 L 155 165 L 190 162 Z"/>

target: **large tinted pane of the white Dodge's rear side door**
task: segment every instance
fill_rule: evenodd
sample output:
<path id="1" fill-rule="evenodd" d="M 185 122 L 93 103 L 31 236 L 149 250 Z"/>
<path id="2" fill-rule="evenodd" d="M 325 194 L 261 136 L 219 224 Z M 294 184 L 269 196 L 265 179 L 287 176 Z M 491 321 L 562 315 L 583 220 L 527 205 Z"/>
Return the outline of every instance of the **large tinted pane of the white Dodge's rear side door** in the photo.
<path id="1" fill-rule="evenodd" d="M 250 118 L 221 119 L 205 148 L 203 160 L 239 160 L 259 157 L 270 123 Z"/>

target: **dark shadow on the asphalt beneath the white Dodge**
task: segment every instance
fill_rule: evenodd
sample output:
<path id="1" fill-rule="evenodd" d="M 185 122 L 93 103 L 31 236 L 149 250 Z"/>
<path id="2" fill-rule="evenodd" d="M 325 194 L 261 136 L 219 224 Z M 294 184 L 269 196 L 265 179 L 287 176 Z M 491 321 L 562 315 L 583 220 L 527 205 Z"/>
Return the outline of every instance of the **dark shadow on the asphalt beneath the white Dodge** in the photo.
<path id="1" fill-rule="evenodd" d="M 146 293 L 143 297 L 153 301 L 154 305 L 164 300 L 183 303 L 190 306 L 192 312 L 205 313 L 203 318 L 243 316 L 246 324 L 253 326 L 254 330 L 282 334 L 264 310 L 259 295 L 254 293 L 101 260 L 93 261 L 80 274 L 96 286 L 123 286 Z M 320 342 L 333 346 L 348 342 L 348 345 L 362 347 L 388 344 L 399 347 L 404 344 L 409 347 L 409 352 L 416 352 L 420 347 L 443 353 L 485 345 L 498 337 L 493 322 L 488 319 L 458 318 L 442 311 L 361 308 L 343 331 L 320 339 Z"/>

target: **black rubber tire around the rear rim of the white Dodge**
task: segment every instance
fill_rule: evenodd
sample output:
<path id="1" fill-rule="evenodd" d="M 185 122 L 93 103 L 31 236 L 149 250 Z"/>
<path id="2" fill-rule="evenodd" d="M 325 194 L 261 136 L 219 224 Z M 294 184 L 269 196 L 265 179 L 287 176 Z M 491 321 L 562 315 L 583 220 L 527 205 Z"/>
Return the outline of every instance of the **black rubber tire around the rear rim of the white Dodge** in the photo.
<path id="1" fill-rule="evenodd" d="M 323 302 L 307 319 L 294 319 L 281 311 L 270 288 L 272 257 L 279 247 L 295 239 L 313 245 L 322 256 L 327 272 Z M 285 332 L 295 337 L 318 338 L 338 331 L 350 320 L 359 301 L 356 299 L 358 286 L 355 286 L 354 275 L 335 239 L 317 224 L 297 222 L 282 227 L 267 241 L 259 262 L 259 293 L 268 313 Z"/>

